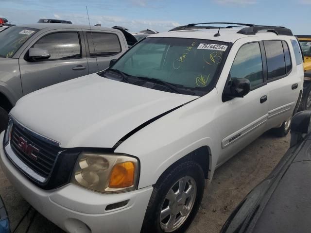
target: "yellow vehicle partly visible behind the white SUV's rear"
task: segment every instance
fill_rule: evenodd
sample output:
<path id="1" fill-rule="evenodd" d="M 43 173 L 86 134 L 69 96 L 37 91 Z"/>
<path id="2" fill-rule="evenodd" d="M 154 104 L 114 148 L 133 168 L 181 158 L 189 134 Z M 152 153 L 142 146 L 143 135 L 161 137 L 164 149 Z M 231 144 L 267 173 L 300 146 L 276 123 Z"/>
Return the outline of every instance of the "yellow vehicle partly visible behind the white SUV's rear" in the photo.
<path id="1" fill-rule="evenodd" d="M 311 109 L 311 35 L 297 35 L 297 37 L 305 60 L 303 64 L 305 70 L 303 96 L 299 109 L 306 110 Z"/>

